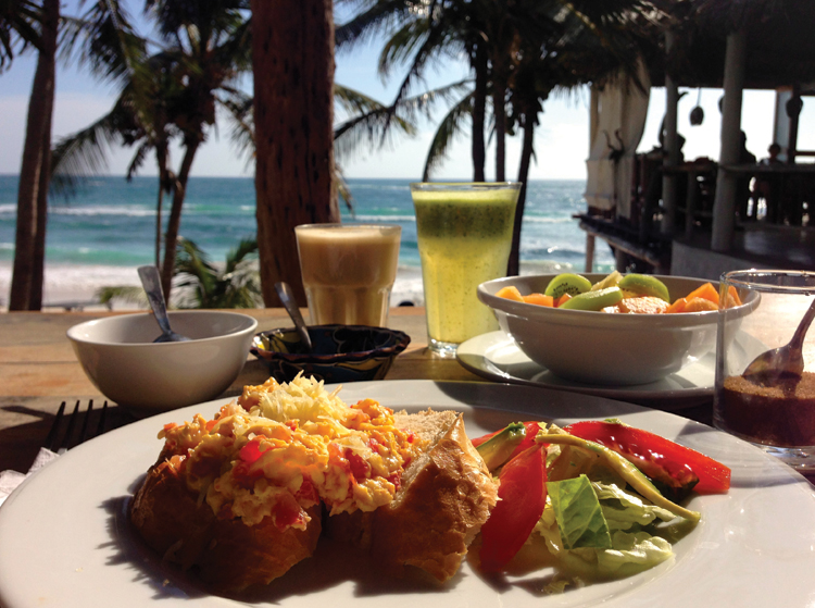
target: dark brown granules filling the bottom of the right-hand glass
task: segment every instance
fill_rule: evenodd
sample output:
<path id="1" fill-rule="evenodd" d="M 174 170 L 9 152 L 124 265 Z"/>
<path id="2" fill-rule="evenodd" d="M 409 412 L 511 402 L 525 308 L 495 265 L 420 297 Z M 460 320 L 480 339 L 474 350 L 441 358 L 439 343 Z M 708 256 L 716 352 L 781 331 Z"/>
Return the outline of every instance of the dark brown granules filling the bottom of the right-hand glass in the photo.
<path id="1" fill-rule="evenodd" d="M 751 442 L 815 446 L 815 373 L 763 386 L 741 375 L 725 379 L 716 423 Z"/>

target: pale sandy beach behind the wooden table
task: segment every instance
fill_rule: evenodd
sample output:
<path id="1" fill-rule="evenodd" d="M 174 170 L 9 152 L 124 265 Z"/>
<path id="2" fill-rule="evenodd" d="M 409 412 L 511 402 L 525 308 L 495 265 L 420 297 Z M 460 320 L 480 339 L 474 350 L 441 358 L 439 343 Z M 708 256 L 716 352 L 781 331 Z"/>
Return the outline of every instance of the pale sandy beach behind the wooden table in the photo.
<path id="1" fill-rule="evenodd" d="M 5 310 L 11 288 L 12 263 L 0 262 L 0 309 Z M 65 310 L 82 307 L 84 310 L 104 310 L 105 307 L 93 306 L 96 294 L 102 287 L 139 285 L 136 268 L 109 265 L 46 265 L 45 286 L 42 290 L 43 310 Z M 397 275 L 391 305 L 411 301 L 416 306 L 424 302 L 422 273 L 413 266 L 400 266 Z M 131 302 L 114 301 L 113 310 L 133 310 L 138 308 Z"/>

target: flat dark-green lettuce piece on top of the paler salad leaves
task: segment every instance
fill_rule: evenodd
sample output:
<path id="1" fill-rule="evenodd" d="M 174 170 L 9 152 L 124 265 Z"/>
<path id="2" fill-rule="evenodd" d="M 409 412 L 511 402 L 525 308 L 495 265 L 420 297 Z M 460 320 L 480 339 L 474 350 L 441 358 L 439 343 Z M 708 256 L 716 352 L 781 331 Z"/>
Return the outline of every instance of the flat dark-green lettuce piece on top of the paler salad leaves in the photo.
<path id="1" fill-rule="evenodd" d="M 609 524 L 586 475 L 547 483 L 563 548 L 611 548 Z"/>

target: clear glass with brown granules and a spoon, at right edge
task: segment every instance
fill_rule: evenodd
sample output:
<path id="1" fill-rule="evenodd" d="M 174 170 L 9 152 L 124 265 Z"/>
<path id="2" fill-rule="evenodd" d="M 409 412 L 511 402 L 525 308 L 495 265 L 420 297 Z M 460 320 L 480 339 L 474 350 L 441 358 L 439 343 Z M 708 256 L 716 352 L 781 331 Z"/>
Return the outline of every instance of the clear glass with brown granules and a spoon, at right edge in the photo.
<path id="1" fill-rule="evenodd" d="M 756 357 L 789 344 L 815 298 L 815 273 L 734 271 L 722 275 L 719 297 L 730 287 L 756 306 L 743 317 L 719 311 L 713 422 L 801 472 L 815 472 L 815 332 L 804 339 L 801 379 L 742 375 Z"/>

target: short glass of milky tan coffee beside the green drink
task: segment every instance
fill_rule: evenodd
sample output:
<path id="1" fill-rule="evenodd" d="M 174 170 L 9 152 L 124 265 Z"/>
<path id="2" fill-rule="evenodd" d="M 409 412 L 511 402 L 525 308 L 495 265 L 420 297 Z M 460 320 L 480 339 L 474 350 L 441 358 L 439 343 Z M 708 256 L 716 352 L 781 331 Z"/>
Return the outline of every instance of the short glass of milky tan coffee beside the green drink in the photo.
<path id="1" fill-rule="evenodd" d="M 303 224 L 294 233 L 311 323 L 384 327 L 401 226 Z"/>

